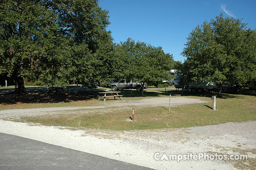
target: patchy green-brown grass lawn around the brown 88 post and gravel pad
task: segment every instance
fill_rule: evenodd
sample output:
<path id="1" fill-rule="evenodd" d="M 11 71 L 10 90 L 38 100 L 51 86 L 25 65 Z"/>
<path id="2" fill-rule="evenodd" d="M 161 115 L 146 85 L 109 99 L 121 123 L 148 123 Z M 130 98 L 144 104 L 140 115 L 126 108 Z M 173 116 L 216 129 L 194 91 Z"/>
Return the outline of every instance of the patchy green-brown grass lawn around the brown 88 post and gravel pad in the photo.
<path id="1" fill-rule="evenodd" d="M 139 100 L 137 91 L 122 91 L 125 100 Z M 255 91 L 242 92 L 244 95 L 223 94 L 223 98 L 217 98 L 216 111 L 211 109 L 212 102 L 202 104 L 189 104 L 179 107 L 144 107 L 135 108 L 135 121 L 131 121 L 131 109 L 122 107 L 110 107 L 112 112 L 73 113 L 59 115 L 45 115 L 40 117 L 22 117 L 22 122 L 40 123 L 52 126 L 68 126 L 80 128 L 112 129 L 112 130 L 142 130 L 162 128 L 186 128 L 191 126 L 205 126 L 222 124 L 227 122 L 255 121 L 256 97 Z M 212 101 L 211 93 L 192 94 L 184 93 L 184 96 L 199 98 L 204 101 Z M 133 96 L 133 97 L 129 97 Z M 145 92 L 147 97 L 168 96 L 162 92 Z M 92 102 L 94 101 L 94 102 Z M 98 104 L 96 100 L 85 103 Z M 90 103 L 90 104 L 91 104 Z M 65 103 L 64 103 L 65 105 Z M 66 106 L 69 106 L 66 103 Z"/>

